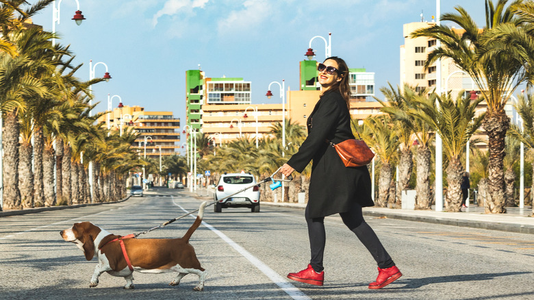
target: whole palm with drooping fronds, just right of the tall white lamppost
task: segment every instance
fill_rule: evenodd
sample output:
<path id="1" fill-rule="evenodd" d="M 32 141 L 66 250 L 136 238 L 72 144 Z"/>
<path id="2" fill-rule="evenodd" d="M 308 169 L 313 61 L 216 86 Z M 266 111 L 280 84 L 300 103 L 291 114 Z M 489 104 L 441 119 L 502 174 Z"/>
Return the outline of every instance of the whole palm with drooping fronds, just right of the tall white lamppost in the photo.
<path id="1" fill-rule="evenodd" d="M 416 108 L 408 110 L 408 114 L 421 118 L 443 140 L 443 149 L 448 159 L 446 209 L 451 212 L 461 211 L 461 176 L 464 168 L 461 157 L 471 136 L 480 127 L 485 114 L 475 116 L 476 105 L 482 100 L 470 100 L 459 94 L 454 101 L 450 93 L 434 99 L 420 98 Z"/>

